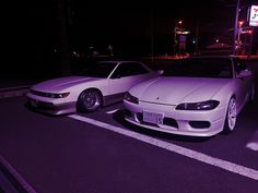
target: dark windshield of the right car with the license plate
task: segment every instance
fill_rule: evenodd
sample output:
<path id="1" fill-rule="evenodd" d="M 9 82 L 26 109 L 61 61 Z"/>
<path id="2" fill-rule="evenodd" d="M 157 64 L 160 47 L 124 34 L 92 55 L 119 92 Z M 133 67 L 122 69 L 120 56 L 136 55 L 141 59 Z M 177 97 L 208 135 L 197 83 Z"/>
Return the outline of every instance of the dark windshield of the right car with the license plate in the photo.
<path id="1" fill-rule="evenodd" d="M 173 63 L 163 76 L 231 79 L 232 71 L 228 58 L 188 58 Z"/>

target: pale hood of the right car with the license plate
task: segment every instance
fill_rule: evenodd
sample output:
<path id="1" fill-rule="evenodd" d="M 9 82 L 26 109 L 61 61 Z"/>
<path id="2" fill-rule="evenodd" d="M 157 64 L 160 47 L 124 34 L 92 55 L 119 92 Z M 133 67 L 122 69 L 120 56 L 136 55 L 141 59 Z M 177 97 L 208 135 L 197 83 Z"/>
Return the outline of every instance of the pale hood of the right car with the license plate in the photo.
<path id="1" fill-rule="evenodd" d="M 134 86 L 130 93 L 141 101 L 178 105 L 212 99 L 231 80 L 159 77 Z"/>

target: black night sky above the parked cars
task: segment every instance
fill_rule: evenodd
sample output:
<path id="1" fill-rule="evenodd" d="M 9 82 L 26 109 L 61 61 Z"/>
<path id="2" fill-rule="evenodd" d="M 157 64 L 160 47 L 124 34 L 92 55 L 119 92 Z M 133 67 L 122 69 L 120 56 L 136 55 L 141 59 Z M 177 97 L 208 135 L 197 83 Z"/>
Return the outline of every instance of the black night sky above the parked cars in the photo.
<path id="1" fill-rule="evenodd" d="M 63 3 L 61 10 L 58 4 Z M 257 0 L 241 0 L 239 19 L 245 19 L 247 8 Z M 190 31 L 187 51 L 194 51 L 191 41 L 198 27 L 199 49 L 220 38 L 232 44 L 236 0 L 180 0 L 180 1 L 86 1 L 42 0 L 26 1 L 7 7 L 3 23 L 5 50 L 10 63 L 25 65 L 52 65 L 55 48 L 86 50 L 94 46 L 105 53 L 109 44 L 117 53 L 150 56 L 172 53 L 175 22 L 183 20 L 183 27 Z M 63 38 L 61 21 L 66 21 Z M 255 28 L 254 44 L 257 48 Z M 12 61 L 14 59 L 14 61 Z M 24 65 L 24 64 L 23 64 Z M 55 65 L 55 68 L 59 68 Z M 43 68 L 44 69 L 44 68 Z"/>

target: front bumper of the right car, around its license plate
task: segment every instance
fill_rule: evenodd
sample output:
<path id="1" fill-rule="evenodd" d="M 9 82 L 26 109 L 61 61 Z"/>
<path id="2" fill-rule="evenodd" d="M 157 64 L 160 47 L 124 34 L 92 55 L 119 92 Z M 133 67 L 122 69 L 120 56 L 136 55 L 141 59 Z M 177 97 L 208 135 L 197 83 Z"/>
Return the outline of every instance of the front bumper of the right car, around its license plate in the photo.
<path id="1" fill-rule="evenodd" d="M 223 130 L 226 106 L 208 111 L 176 110 L 175 106 L 124 100 L 125 119 L 136 125 L 160 132 L 188 135 L 212 136 Z M 163 114 L 161 123 L 149 123 L 143 120 L 143 111 Z"/>

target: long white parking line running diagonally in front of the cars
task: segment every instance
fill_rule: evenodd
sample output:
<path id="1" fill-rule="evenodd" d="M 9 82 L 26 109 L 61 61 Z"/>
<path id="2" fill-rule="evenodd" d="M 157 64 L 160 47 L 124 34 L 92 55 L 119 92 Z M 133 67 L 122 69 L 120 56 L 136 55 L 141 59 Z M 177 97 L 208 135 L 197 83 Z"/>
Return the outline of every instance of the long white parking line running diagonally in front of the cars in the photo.
<path id="1" fill-rule="evenodd" d="M 143 134 L 140 134 L 137 132 L 125 130 L 122 128 L 107 124 L 105 122 L 101 122 L 101 121 L 97 121 L 94 119 L 85 118 L 85 117 L 78 116 L 78 114 L 71 114 L 68 117 L 79 120 L 79 121 L 83 121 L 83 122 L 86 122 L 90 124 L 94 124 L 94 125 L 104 128 L 106 130 L 114 131 L 116 133 L 120 133 L 122 135 L 126 135 L 126 136 L 129 136 L 132 138 L 137 138 L 141 142 L 145 142 L 148 144 L 151 144 L 151 145 L 154 145 L 154 146 L 157 146 L 161 148 L 165 148 L 165 149 L 171 150 L 173 153 L 206 162 L 211 166 L 215 166 L 218 168 L 231 171 L 233 173 L 237 173 L 237 174 L 241 174 L 241 176 L 254 179 L 254 180 L 258 180 L 258 170 L 247 168 L 247 167 L 244 167 L 241 165 L 236 165 L 234 162 L 230 162 L 230 161 L 226 161 L 223 159 L 219 159 L 219 158 L 215 158 L 215 157 L 212 157 L 212 156 L 209 156 L 209 155 L 196 152 L 196 150 L 191 150 L 189 148 L 185 148 L 185 147 L 181 147 L 181 146 L 168 143 L 168 142 L 164 142 L 164 141 L 161 141 L 161 140 L 157 140 L 157 138 L 154 138 L 154 137 L 151 137 L 148 135 L 143 135 Z"/>

